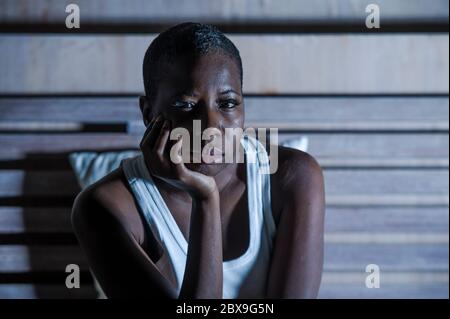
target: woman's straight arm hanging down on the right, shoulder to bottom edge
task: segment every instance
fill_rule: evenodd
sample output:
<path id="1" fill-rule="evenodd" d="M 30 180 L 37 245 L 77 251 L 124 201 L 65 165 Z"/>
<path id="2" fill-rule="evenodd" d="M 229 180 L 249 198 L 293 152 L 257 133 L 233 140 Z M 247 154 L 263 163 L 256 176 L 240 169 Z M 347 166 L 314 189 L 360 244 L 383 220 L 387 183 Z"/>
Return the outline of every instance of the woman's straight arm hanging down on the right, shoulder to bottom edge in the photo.
<path id="1" fill-rule="evenodd" d="M 268 298 L 316 298 L 323 268 L 322 170 L 303 152 L 289 156 L 268 278 Z"/>

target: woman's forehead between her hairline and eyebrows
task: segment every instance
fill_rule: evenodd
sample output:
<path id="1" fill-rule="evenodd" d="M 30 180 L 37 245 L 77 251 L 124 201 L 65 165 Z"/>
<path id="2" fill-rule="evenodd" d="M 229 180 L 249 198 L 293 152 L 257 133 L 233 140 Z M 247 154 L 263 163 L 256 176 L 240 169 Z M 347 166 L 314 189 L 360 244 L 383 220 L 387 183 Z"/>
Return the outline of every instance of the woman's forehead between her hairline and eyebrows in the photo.
<path id="1" fill-rule="evenodd" d="M 164 69 L 160 88 L 174 91 L 241 91 L 237 62 L 223 53 L 209 53 L 200 57 L 180 57 Z"/>

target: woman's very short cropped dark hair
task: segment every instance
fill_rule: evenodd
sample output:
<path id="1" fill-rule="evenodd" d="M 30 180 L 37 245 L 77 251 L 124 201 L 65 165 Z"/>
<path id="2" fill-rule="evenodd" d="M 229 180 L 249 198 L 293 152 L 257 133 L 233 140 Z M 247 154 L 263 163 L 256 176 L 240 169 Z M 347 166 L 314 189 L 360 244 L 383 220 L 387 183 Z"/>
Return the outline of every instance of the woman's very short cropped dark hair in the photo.
<path id="1" fill-rule="evenodd" d="M 160 33 L 145 52 L 142 71 L 146 96 L 153 98 L 157 92 L 165 63 L 179 56 L 197 57 L 212 52 L 225 53 L 236 61 L 242 86 L 242 60 L 233 42 L 212 25 L 186 22 Z"/>

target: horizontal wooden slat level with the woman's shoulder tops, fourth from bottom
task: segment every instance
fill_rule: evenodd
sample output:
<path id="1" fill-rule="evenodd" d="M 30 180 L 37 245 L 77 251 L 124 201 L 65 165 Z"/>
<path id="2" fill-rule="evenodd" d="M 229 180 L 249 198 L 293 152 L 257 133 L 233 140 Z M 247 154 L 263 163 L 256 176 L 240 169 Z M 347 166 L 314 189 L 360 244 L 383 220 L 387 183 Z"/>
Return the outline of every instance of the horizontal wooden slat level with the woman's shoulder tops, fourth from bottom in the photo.
<path id="1" fill-rule="evenodd" d="M 329 195 L 446 195 L 447 169 L 333 169 L 324 171 Z M 0 170 L 0 196 L 72 195 L 80 191 L 71 171 Z"/>

